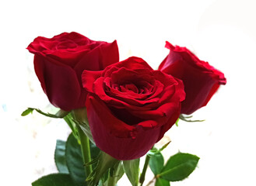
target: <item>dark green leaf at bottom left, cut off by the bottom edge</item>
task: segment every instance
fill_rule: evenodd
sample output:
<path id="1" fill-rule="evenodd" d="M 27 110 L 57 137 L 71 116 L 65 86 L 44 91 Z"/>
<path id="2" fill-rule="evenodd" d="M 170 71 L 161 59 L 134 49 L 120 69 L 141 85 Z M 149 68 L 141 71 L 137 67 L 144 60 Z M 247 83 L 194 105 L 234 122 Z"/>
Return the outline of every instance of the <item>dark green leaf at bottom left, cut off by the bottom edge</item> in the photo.
<path id="1" fill-rule="evenodd" d="M 59 173 L 40 177 L 32 186 L 74 186 L 74 183 L 69 174 Z"/>

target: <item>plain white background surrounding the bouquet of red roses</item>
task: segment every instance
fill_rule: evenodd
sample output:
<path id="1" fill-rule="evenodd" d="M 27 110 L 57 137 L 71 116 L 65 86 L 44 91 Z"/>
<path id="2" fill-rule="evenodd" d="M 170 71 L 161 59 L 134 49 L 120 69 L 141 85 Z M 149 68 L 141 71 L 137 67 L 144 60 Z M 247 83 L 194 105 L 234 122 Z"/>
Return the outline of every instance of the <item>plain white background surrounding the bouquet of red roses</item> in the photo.
<path id="1" fill-rule="evenodd" d="M 59 119 L 20 116 L 48 105 L 26 47 L 37 36 L 75 31 L 117 40 L 121 60 L 142 57 L 156 69 L 168 40 L 223 71 L 227 84 L 194 114 L 206 121 L 180 122 L 167 133 L 166 157 L 178 150 L 201 157 L 188 179 L 171 185 L 255 185 L 255 8 L 254 0 L 0 2 L 0 184 L 30 185 L 56 172 L 55 140 L 69 130 Z"/>

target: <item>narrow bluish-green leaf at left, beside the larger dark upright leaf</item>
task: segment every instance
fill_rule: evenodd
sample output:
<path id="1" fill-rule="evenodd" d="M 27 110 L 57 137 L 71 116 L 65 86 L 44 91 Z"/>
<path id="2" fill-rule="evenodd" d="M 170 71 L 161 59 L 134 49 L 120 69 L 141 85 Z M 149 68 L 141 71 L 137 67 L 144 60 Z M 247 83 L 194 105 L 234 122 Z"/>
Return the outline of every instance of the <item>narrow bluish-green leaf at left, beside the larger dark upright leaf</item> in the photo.
<path id="1" fill-rule="evenodd" d="M 55 164 L 60 173 L 68 173 L 68 167 L 66 164 L 66 157 L 65 157 L 65 145 L 66 145 L 65 141 L 57 140 L 56 148 L 54 152 Z"/>

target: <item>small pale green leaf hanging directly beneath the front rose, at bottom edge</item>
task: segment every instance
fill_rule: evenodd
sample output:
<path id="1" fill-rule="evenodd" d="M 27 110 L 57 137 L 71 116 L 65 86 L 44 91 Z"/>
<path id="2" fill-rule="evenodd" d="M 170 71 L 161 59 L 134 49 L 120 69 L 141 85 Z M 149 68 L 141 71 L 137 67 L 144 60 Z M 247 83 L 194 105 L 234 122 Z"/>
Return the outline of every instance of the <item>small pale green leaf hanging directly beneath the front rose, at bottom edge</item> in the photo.
<path id="1" fill-rule="evenodd" d="M 124 160 L 124 172 L 132 186 L 139 184 L 139 158 L 135 160 Z"/>

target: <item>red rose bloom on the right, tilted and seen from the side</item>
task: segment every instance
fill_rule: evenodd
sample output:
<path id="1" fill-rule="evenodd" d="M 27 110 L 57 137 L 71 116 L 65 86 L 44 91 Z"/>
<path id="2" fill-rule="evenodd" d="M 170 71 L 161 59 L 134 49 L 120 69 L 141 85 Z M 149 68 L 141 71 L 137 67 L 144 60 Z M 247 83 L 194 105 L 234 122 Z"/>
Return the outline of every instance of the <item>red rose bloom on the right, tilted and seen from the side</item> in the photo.
<path id="1" fill-rule="evenodd" d="M 183 81 L 186 98 L 182 102 L 181 113 L 190 115 L 209 102 L 219 84 L 226 84 L 226 78 L 187 48 L 174 47 L 169 42 L 166 47 L 170 53 L 160 64 L 159 70 Z"/>

